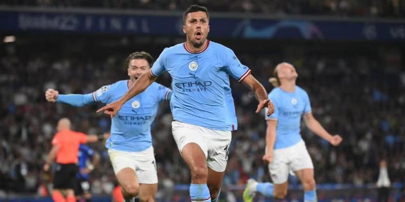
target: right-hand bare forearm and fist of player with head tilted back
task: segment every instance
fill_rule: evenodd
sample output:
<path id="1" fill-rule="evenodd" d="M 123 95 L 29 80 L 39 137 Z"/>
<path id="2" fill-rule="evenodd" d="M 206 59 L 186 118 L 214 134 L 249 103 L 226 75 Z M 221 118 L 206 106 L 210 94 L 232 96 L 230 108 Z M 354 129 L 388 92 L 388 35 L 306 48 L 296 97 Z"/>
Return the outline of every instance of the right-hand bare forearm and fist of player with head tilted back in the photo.
<path id="1" fill-rule="evenodd" d="M 304 115 L 305 124 L 308 128 L 314 132 L 319 137 L 329 141 L 332 145 L 337 146 L 342 141 L 342 137 L 340 135 L 331 135 L 325 128 L 320 125 L 320 123 L 313 117 L 312 113 L 309 112 Z"/>

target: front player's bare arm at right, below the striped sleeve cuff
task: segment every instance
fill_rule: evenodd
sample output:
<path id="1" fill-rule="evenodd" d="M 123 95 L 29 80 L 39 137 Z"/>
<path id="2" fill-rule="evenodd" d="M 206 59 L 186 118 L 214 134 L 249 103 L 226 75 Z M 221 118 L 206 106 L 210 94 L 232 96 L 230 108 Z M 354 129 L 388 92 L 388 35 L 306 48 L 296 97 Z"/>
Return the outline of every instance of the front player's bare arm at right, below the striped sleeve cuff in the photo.
<path id="1" fill-rule="evenodd" d="M 256 113 L 259 113 L 260 110 L 267 107 L 269 110 L 267 112 L 267 116 L 270 116 L 274 112 L 274 105 L 270 100 L 267 98 L 266 89 L 264 89 L 263 85 L 259 83 L 252 75 L 247 76 L 244 80 L 242 80 L 248 88 L 250 88 L 253 92 L 255 92 L 256 99 L 259 101 L 259 105 L 257 106 Z"/>

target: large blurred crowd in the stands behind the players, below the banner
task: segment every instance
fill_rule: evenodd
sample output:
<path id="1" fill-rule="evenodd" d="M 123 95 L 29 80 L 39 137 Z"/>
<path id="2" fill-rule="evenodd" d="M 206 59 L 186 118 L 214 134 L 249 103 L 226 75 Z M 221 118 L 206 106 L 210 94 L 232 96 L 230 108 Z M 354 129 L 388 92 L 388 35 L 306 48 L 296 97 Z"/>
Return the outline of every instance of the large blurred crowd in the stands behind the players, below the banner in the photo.
<path id="1" fill-rule="evenodd" d="M 79 48 L 66 54 L 55 47 L 41 52 L 14 44 L 1 47 L 0 196 L 10 192 L 41 192 L 51 182 L 50 174 L 42 171 L 42 166 L 58 119 L 68 117 L 75 130 L 86 133 L 101 134 L 110 125 L 108 116 L 95 113 L 100 105 L 74 108 L 47 103 L 45 90 L 90 93 L 127 79 L 125 59 L 129 53 L 97 56 Z M 383 158 L 388 162 L 391 182 L 405 182 L 405 72 L 399 68 L 400 56 L 323 52 L 237 56 L 267 91 L 271 90 L 267 79 L 275 65 L 281 61 L 294 64 L 300 75 L 298 85 L 311 97 L 314 116 L 329 131 L 343 137 L 342 144 L 333 147 L 302 128 L 317 183 L 375 183 Z M 170 86 L 169 75 L 159 77 L 158 82 Z M 231 84 L 239 128 L 233 132 L 224 184 L 243 185 L 250 177 L 270 181 L 261 160 L 265 146 L 264 115 L 254 113 L 257 104 L 248 88 L 233 80 Z M 159 187 L 189 182 L 187 167 L 172 137 L 171 121 L 169 105 L 162 104 L 152 125 Z M 91 174 L 92 192 L 110 193 L 114 173 L 106 149 L 102 143 L 90 146 L 101 156 L 100 164 Z"/>

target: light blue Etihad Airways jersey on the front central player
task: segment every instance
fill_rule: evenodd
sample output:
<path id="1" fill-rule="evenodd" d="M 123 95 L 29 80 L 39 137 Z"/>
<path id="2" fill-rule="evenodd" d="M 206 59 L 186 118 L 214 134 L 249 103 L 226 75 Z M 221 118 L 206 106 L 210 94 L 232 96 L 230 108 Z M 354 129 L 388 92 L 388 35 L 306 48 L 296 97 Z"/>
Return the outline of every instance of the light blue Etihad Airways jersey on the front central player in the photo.
<path id="1" fill-rule="evenodd" d="M 239 62 L 231 49 L 207 41 L 200 52 L 192 53 L 185 43 L 180 43 L 165 48 L 150 73 L 158 76 L 165 71 L 172 76 L 170 106 L 175 121 L 215 130 L 235 129 L 229 75 L 240 82 L 251 70 Z"/>

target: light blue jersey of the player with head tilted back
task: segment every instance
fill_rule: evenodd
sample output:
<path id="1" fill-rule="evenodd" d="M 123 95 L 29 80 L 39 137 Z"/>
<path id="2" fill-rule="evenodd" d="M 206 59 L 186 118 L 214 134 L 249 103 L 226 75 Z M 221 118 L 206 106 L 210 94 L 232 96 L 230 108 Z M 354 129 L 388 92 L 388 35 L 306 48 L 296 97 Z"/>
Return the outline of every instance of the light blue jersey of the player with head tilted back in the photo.
<path id="1" fill-rule="evenodd" d="M 296 86 L 295 92 L 286 92 L 279 87 L 274 88 L 268 98 L 274 104 L 274 113 L 267 120 L 277 120 L 274 149 L 285 148 L 298 143 L 301 117 L 311 112 L 308 94 Z"/>

